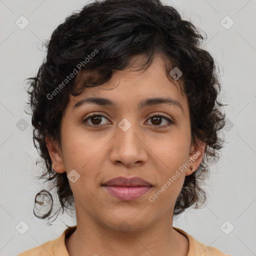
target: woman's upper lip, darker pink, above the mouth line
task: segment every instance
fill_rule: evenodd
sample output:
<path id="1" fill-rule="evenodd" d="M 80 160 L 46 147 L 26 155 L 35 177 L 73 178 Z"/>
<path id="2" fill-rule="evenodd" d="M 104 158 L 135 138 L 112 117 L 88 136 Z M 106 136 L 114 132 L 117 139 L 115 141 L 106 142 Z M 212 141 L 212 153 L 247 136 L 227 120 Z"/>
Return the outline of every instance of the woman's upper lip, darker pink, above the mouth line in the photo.
<path id="1" fill-rule="evenodd" d="M 132 177 L 132 178 L 125 178 L 125 177 L 116 177 L 112 178 L 105 183 L 102 184 L 103 186 L 152 186 L 146 180 L 140 177 Z"/>

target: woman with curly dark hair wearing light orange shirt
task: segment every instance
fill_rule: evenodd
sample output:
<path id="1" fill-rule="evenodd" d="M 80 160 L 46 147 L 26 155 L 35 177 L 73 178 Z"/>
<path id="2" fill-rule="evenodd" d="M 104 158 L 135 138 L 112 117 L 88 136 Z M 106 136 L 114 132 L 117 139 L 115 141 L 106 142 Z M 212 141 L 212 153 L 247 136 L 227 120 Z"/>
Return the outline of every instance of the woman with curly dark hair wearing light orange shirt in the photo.
<path id="1" fill-rule="evenodd" d="M 227 255 L 172 226 L 204 202 L 200 181 L 223 142 L 220 83 L 201 39 L 158 0 L 95 1 L 53 31 L 30 78 L 33 139 L 41 178 L 77 224 L 19 256 Z M 41 190 L 34 214 L 57 213 Z"/>

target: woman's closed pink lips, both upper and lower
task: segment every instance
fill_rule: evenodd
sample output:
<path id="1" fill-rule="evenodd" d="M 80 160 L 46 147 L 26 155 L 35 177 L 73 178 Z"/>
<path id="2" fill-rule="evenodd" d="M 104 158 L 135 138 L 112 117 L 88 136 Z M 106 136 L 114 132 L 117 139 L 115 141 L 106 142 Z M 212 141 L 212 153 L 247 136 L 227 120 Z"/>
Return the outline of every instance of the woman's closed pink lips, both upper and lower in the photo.
<path id="1" fill-rule="evenodd" d="M 152 187 L 149 182 L 139 177 L 116 177 L 102 185 L 112 196 L 119 200 L 136 199 L 145 194 Z"/>

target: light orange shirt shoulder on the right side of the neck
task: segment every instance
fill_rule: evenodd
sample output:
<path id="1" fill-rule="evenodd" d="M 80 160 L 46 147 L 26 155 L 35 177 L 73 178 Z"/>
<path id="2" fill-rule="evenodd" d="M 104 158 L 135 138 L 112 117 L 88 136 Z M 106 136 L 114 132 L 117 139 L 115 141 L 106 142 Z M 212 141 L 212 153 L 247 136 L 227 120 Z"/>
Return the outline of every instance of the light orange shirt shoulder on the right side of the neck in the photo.
<path id="1" fill-rule="evenodd" d="M 230 254 L 225 254 L 221 252 L 219 249 L 208 246 L 206 244 L 203 244 L 199 241 L 197 241 L 193 236 L 186 233 L 184 230 L 179 229 L 177 227 L 173 226 L 173 229 L 180 232 L 181 234 L 185 235 L 189 242 L 189 249 L 187 256 L 232 256 Z"/>

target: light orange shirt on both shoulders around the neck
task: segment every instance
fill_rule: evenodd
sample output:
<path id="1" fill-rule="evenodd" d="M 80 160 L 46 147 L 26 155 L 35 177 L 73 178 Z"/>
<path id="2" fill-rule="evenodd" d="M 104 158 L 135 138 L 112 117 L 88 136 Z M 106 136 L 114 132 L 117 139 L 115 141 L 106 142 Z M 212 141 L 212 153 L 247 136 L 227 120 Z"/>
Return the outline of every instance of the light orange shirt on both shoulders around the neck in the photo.
<path id="1" fill-rule="evenodd" d="M 65 246 L 65 236 L 70 235 L 75 229 L 76 226 L 68 227 L 55 240 L 45 242 L 40 246 L 26 250 L 18 254 L 17 256 L 69 256 Z M 203 243 L 200 243 L 182 229 L 174 226 L 173 229 L 180 232 L 181 234 L 184 234 L 187 237 L 189 242 L 187 256 L 231 256 L 228 254 L 224 254 L 215 247 L 207 246 Z"/>

